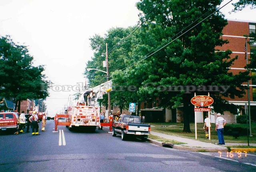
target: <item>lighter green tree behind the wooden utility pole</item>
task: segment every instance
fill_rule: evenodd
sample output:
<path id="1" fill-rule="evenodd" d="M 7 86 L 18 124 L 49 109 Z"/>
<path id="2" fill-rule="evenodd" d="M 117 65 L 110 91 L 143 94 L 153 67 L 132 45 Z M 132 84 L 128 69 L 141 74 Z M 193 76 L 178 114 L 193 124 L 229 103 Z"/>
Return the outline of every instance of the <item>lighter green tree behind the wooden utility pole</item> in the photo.
<path id="1" fill-rule="evenodd" d="M 126 63 L 129 63 L 133 60 L 130 59 L 130 51 L 132 49 L 132 42 L 134 42 L 135 36 L 132 35 L 129 38 L 124 39 L 134 28 L 111 28 L 108 30 L 107 34 L 104 37 L 94 35 L 90 38 L 91 48 L 95 51 L 92 60 L 88 61 L 86 69 L 96 68 L 103 71 L 106 71 L 106 68 L 103 67 L 102 61 L 106 59 L 106 43 L 108 43 L 108 65 L 110 76 L 112 72 L 126 67 Z M 106 73 L 100 71 L 86 71 L 86 77 L 90 81 L 90 87 L 100 85 L 107 81 Z M 112 79 L 112 77 L 110 77 Z M 100 105 L 107 106 L 108 99 L 104 95 L 103 99 L 99 99 L 98 102 Z M 117 105 L 120 109 L 127 107 L 126 97 L 119 91 L 111 92 L 111 104 Z"/>

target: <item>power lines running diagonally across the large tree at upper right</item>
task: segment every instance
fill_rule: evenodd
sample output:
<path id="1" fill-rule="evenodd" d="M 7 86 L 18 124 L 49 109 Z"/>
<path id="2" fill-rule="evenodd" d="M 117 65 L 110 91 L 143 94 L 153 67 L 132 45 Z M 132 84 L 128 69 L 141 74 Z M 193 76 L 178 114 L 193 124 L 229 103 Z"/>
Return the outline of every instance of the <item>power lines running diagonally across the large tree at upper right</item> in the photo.
<path id="1" fill-rule="evenodd" d="M 222 0 L 223 1 L 223 0 Z M 175 40 L 177 40 L 178 38 L 180 38 L 181 36 L 183 36 L 184 34 L 186 34 L 188 31 L 190 31 L 190 30 L 192 30 L 193 28 L 195 28 L 198 24 L 200 24 L 200 23 L 202 23 L 204 20 L 206 20 L 207 18 L 209 18 L 210 16 L 212 16 L 212 14 L 214 14 L 215 12 L 217 12 L 217 11 L 219 11 L 220 9 L 222 9 L 224 6 L 226 6 L 227 4 L 229 4 L 230 2 L 232 2 L 233 0 L 230 0 L 229 2 L 227 2 L 225 5 L 223 5 L 222 7 L 220 7 L 220 8 L 218 8 L 217 10 L 215 10 L 214 12 L 212 12 L 210 15 L 208 15 L 206 18 L 204 18 L 203 20 L 201 20 L 200 22 L 198 22 L 196 25 L 194 25 L 194 26 L 192 26 L 190 29 L 188 29 L 186 32 L 184 32 L 184 33 L 182 33 L 180 36 L 178 36 L 177 38 L 175 38 L 174 40 L 172 40 L 171 42 L 168 42 L 169 40 L 171 40 L 172 38 L 174 38 L 174 36 L 172 37 L 172 38 L 170 38 L 169 40 L 167 40 L 166 42 L 168 42 L 167 44 L 165 44 L 164 46 L 162 46 L 164 43 L 166 43 L 166 42 L 164 42 L 164 43 L 162 43 L 160 46 L 162 46 L 162 47 L 160 47 L 160 46 L 158 46 L 158 47 L 160 47 L 159 49 L 158 49 L 158 47 L 156 47 L 154 50 L 152 50 L 152 51 L 154 51 L 154 52 L 152 52 L 152 51 L 150 51 L 150 53 L 148 53 L 147 55 L 145 55 L 145 57 L 144 58 L 142 58 L 142 59 L 140 59 L 138 62 L 134 62 L 132 65 L 130 65 L 130 66 L 128 66 L 128 67 L 125 67 L 125 68 L 123 68 L 123 69 L 121 69 L 121 70 L 124 70 L 124 71 L 126 71 L 129 67 L 132 67 L 132 66 L 134 66 L 135 64 L 138 64 L 138 63 L 140 63 L 141 61 L 143 61 L 143 60 L 145 60 L 146 58 L 148 58 L 148 57 L 150 57 L 151 55 L 153 55 L 154 53 L 156 53 L 156 52 L 158 52 L 158 51 L 160 51 L 161 49 L 163 49 L 164 47 L 166 47 L 167 45 L 169 45 L 170 43 L 172 43 L 172 42 L 174 42 Z M 210 11 L 210 10 L 209 10 Z M 208 12 L 209 12 L 208 11 Z M 205 14 L 207 14 L 208 12 L 206 12 Z M 204 16 L 205 14 L 203 14 L 202 16 Z M 202 16 L 200 16 L 200 18 L 202 17 Z M 198 19 L 200 19 L 200 18 L 198 18 Z M 196 19 L 194 22 L 196 22 L 198 19 Z M 192 22 L 191 24 L 193 24 L 194 22 Z M 190 25 L 191 25 L 190 24 Z M 190 26 L 190 25 L 188 25 L 188 26 Z M 186 28 L 188 28 L 188 26 L 186 27 Z M 185 29 L 186 29 L 185 28 Z M 183 29 L 183 30 L 185 30 L 185 29 Z M 178 34 L 180 34 L 183 30 L 181 30 Z M 178 34 L 176 34 L 175 36 L 177 36 Z M 158 49 L 158 50 L 156 50 L 156 49 Z M 156 51 L 155 51 L 156 50 Z"/>

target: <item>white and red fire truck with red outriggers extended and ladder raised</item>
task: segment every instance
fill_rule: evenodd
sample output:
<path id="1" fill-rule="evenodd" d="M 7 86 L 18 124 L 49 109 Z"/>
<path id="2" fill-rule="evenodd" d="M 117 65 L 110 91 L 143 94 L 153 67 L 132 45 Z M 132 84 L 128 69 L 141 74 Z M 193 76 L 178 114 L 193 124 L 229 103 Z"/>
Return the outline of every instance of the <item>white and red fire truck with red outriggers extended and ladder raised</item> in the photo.
<path id="1" fill-rule="evenodd" d="M 55 116 L 55 130 L 57 130 L 58 125 L 66 125 L 69 130 L 75 128 L 88 128 L 91 131 L 95 131 L 96 127 L 106 126 L 111 127 L 112 130 L 112 120 L 110 123 L 100 124 L 100 107 L 98 106 L 97 100 L 102 99 L 103 94 L 110 91 L 109 88 L 112 85 L 112 81 L 98 85 L 92 89 L 86 90 L 79 97 L 76 105 L 70 105 L 67 108 L 65 115 Z M 66 122 L 60 122 L 59 120 L 65 118 Z"/>

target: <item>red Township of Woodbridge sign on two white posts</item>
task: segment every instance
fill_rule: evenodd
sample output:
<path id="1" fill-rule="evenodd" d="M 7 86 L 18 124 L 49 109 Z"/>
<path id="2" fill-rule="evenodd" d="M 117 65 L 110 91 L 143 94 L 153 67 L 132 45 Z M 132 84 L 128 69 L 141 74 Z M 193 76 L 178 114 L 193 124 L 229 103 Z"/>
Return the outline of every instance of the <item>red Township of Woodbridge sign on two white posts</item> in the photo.
<path id="1" fill-rule="evenodd" d="M 206 95 L 198 95 L 196 96 L 196 93 L 194 94 L 194 97 L 191 99 L 191 103 L 195 106 L 194 112 L 195 112 L 195 137 L 197 139 L 197 126 L 196 126 L 196 112 L 208 112 L 208 119 L 210 122 L 210 105 L 213 103 L 212 97 L 210 97 L 210 93 L 208 93 L 208 96 Z M 203 108 L 207 107 L 208 108 Z M 209 133 L 209 140 L 211 140 L 211 133 L 210 133 L 210 125 L 208 127 L 208 133 Z"/>

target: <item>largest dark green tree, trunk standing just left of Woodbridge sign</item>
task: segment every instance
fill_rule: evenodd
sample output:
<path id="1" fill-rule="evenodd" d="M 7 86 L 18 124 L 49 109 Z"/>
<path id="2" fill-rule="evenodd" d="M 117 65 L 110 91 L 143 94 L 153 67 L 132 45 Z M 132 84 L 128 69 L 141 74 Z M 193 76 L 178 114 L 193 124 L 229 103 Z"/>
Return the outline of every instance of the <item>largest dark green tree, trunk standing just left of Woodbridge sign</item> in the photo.
<path id="1" fill-rule="evenodd" d="M 141 0 L 137 3 L 137 7 L 143 12 L 142 20 L 147 21 L 145 29 L 150 32 L 150 28 L 161 28 L 156 41 L 159 40 L 164 43 L 166 39 L 172 38 L 193 21 L 197 20 L 199 22 L 211 12 L 214 12 L 221 1 L 163 0 L 163 5 L 158 10 L 148 14 L 149 9 L 158 2 L 157 0 Z M 207 12 L 207 15 L 202 16 Z M 148 20 L 143 17 L 146 15 L 150 15 Z M 214 111 L 223 112 L 228 110 L 236 114 L 237 107 L 229 104 L 223 97 L 242 97 L 244 86 L 241 86 L 241 84 L 248 79 L 248 73 L 244 72 L 238 75 L 231 73 L 228 67 L 234 63 L 237 57 L 230 59 L 231 51 L 221 52 L 216 49 L 216 47 L 227 43 L 227 41 L 220 38 L 222 29 L 226 24 L 227 21 L 223 15 L 220 12 L 215 12 L 210 18 L 184 34 L 176 42 L 149 57 L 144 63 L 151 61 L 153 67 L 150 68 L 152 70 L 148 71 L 149 77 L 144 83 L 154 83 L 155 86 L 195 85 L 197 87 L 202 85 L 229 85 L 230 88 L 226 93 L 210 93 L 214 98 Z M 162 107 L 176 108 L 183 104 L 183 131 L 191 132 L 189 122 L 194 112 L 190 99 L 194 96 L 194 93 L 159 91 L 153 85 L 141 87 L 140 93 L 159 97 L 160 106 Z M 207 92 L 198 94 L 207 95 Z"/>

